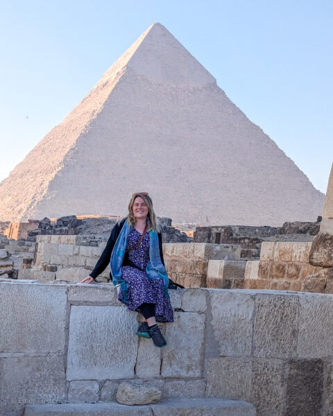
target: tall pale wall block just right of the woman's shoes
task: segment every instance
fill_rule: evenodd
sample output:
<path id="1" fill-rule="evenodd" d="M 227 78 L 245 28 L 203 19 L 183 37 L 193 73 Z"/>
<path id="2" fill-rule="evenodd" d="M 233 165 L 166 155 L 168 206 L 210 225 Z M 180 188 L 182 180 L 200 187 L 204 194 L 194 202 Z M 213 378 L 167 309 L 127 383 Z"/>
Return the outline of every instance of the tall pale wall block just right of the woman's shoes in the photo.
<path id="1" fill-rule="evenodd" d="M 205 315 L 175 312 L 167 324 L 161 375 L 163 377 L 200 377 L 204 345 Z"/>

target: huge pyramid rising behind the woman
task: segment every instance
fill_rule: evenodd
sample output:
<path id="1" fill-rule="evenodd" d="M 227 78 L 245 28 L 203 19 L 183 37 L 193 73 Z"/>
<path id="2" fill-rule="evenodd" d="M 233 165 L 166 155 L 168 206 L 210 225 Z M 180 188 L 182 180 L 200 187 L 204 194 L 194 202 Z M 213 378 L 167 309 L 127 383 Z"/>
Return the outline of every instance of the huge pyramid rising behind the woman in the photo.
<path id="1" fill-rule="evenodd" d="M 0 220 L 123 215 L 135 191 L 201 225 L 316 220 L 324 202 L 159 23 L 0 183 Z"/>

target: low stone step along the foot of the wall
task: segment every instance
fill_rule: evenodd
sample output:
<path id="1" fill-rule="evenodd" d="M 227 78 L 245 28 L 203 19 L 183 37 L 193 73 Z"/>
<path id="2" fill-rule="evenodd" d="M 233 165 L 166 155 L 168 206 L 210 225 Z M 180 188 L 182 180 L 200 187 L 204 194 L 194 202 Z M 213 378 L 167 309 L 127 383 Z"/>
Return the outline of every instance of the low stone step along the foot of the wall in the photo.
<path id="1" fill-rule="evenodd" d="M 24 416 L 255 416 L 246 401 L 227 399 L 169 399 L 146 406 L 116 402 L 27 404 Z"/>

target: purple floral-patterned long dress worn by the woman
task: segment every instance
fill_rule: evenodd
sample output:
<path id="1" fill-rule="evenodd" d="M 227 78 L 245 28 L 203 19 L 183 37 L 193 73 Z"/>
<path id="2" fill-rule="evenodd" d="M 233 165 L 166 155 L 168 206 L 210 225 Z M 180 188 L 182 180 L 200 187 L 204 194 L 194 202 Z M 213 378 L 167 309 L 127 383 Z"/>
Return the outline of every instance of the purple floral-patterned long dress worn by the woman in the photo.
<path id="1" fill-rule="evenodd" d="M 155 317 L 157 322 L 173 322 L 173 311 L 170 299 L 164 296 L 164 282 L 162 279 L 149 279 L 145 268 L 149 262 L 149 233 L 145 232 L 139 247 L 135 248 L 141 238 L 135 227 L 128 234 L 126 249 L 129 249 L 128 258 L 135 266 L 122 266 L 122 278 L 128 284 L 128 302 L 123 302 L 122 291 L 118 299 L 126 303 L 130 311 L 139 311 L 143 303 L 155 304 Z"/>

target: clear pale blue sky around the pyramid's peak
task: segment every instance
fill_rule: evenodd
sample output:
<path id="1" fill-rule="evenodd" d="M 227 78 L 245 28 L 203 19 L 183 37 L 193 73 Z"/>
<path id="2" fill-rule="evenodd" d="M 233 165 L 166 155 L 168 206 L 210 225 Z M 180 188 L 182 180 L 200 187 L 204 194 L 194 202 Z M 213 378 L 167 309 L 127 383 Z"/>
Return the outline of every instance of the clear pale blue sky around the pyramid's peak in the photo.
<path id="1" fill-rule="evenodd" d="M 156 21 L 325 193 L 331 0 L 0 0 L 0 181 Z"/>

